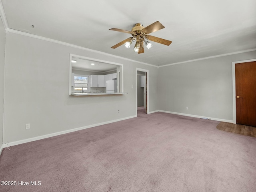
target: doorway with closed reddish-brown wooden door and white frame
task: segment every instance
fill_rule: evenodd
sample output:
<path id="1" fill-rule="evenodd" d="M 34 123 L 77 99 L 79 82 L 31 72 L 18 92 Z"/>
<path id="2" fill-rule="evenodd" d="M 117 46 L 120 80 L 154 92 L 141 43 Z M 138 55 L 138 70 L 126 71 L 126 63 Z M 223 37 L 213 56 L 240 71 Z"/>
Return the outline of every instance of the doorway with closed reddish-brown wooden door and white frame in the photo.
<path id="1" fill-rule="evenodd" d="M 256 59 L 233 62 L 234 124 L 256 126 Z"/>

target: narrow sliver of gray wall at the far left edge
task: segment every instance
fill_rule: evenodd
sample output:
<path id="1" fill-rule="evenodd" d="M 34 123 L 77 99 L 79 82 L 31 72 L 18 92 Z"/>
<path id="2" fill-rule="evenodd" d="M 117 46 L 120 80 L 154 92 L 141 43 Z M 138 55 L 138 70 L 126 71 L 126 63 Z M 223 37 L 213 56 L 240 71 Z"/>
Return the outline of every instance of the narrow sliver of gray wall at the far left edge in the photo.
<path id="1" fill-rule="evenodd" d="M 0 18 L 0 147 L 3 142 L 5 30 Z"/>

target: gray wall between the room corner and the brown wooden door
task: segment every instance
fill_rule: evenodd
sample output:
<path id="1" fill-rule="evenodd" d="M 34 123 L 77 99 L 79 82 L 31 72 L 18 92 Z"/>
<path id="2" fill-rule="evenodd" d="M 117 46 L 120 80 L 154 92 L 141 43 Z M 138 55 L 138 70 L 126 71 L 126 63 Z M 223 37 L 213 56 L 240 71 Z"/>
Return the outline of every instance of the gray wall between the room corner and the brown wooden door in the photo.
<path id="1" fill-rule="evenodd" d="M 232 62 L 253 58 L 256 51 L 160 67 L 159 110 L 233 120 Z"/>

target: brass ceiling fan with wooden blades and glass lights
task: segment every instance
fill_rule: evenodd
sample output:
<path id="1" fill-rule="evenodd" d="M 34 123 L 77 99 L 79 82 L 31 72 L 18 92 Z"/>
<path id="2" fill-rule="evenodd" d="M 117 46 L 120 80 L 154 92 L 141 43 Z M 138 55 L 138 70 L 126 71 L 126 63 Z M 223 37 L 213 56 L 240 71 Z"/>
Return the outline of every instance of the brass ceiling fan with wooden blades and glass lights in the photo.
<path id="1" fill-rule="evenodd" d="M 172 41 L 148 35 L 152 32 L 158 31 L 163 28 L 164 28 L 164 26 L 159 21 L 156 21 L 147 27 L 143 27 L 142 24 L 137 23 L 132 28 L 132 31 L 127 31 L 127 30 L 122 30 L 122 29 L 117 29 L 117 28 L 109 29 L 109 30 L 113 30 L 113 31 L 129 33 L 132 35 L 132 37 L 129 37 L 126 40 L 121 41 L 120 43 L 112 46 L 111 48 L 115 49 L 115 48 L 121 46 L 122 44 L 124 44 L 126 46 L 126 48 L 130 48 L 132 42 L 136 42 L 133 50 L 135 52 L 138 52 L 138 54 L 140 54 L 140 53 L 144 53 L 144 44 L 143 43 L 145 43 L 146 48 L 148 48 L 148 49 L 152 47 L 152 44 L 150 42 L 148 42 L 148 40 L 169 46 L 172 43 Z"/>

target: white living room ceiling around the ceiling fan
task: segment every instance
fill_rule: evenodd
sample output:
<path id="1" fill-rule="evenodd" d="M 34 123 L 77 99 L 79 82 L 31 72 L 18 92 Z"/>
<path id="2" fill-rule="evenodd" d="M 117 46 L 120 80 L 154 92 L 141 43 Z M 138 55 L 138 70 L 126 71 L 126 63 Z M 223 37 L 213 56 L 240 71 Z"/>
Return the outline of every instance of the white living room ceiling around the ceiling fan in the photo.
<path id="1" fill-rule="evenodd" d="M 256 48 L 255 0 L 1 0 L 10 29 L 156 66 Z M 156 42 L 138 54 L 110 48 L 131 30 L 161 22 Z M 34 28 L 32 28 L 34 25 Z"/>

